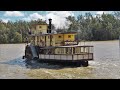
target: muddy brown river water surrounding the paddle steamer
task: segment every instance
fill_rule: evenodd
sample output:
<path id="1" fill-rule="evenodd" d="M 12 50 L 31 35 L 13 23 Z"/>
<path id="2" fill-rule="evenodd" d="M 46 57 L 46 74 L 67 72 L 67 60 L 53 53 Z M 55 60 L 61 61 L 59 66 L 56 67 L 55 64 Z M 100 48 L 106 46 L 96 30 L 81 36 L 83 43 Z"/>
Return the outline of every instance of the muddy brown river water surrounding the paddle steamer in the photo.
<path id="1" fill-rule="evenodd" d="M 88 67 L 65 67 L 26 62 L 25 44 L 0 44 L 0 79 L 120 79 L 119 41 L 94 41 L 94 60 Z"/>

